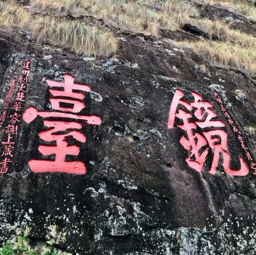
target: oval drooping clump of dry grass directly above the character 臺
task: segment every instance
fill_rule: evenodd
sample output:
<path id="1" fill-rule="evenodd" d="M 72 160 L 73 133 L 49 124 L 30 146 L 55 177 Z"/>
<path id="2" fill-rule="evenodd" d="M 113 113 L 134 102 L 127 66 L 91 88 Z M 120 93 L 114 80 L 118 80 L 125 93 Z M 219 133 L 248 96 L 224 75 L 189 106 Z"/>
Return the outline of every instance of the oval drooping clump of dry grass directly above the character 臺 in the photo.
<path id="1" fill-rule="evenodd" d="M 77 54 L 108 56 L 118 48 L 117 39 L 111 32 L 83 22 L 37 17 L 31 30 L 38 40 Z"/>

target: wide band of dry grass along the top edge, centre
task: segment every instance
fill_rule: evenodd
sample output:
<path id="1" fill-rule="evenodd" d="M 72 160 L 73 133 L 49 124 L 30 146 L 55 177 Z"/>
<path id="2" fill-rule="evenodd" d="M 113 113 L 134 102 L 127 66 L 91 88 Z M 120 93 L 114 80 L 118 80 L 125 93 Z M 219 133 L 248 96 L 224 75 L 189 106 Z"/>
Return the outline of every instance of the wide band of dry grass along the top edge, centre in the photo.
<path id="1" fill-rule="evenodd" d="M 185 0 L 33 0 L 31 10 L 54 15 L 91 15 L 106 25 L 154 36 L 159 36 L 160 29 L 175 31 L 190 15 L 199 15 Z"/>

